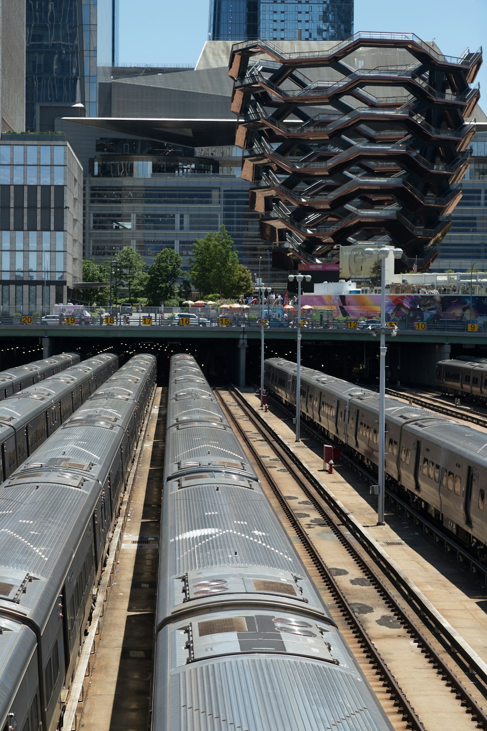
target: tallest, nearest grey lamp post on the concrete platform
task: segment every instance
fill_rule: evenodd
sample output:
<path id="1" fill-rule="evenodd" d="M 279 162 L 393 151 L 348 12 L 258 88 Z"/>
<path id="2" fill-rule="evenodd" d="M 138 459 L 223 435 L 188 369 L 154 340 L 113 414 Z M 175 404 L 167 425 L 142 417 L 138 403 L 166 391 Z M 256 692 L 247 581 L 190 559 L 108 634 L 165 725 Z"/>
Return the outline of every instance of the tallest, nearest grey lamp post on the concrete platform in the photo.
<path id="1" fill-rule="evenodd" d="M 380 257 L 380 368 L 379 368 L 379 463 L 377 472 L 379 478 L 379 500 L 377 505 L 377 526 L 385 525 L 384 521 L 384 497 L 386 494 L 386 259 L 392 251 L 394 259 L 402 257 L 402 249 L 389 249 L 383 246 L 377 252 Z M 375 249 L 365 249 L 367 257 L 372 256 Z M 396 329 L 391 329 L 391 334 L 396 335 Z M 372 332 L 372 335 L 376 335 Z"/>

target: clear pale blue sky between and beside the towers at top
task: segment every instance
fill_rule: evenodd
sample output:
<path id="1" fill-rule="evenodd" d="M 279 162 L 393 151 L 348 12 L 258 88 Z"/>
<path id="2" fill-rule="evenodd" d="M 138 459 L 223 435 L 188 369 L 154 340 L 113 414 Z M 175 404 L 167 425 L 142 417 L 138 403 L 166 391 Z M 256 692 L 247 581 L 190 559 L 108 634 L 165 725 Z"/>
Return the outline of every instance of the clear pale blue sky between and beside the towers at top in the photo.
<path id="1" fill-rule="evenodd" d="M 207 39 L 209 7 L 210 0 L 120 0 L 120 64 L 194 66 Z M 475 83 L 487 109 L 487 0 L 355 0 L 354 29 L 412 32 L 434 39 L 446 56 L 483 45 Z"/>

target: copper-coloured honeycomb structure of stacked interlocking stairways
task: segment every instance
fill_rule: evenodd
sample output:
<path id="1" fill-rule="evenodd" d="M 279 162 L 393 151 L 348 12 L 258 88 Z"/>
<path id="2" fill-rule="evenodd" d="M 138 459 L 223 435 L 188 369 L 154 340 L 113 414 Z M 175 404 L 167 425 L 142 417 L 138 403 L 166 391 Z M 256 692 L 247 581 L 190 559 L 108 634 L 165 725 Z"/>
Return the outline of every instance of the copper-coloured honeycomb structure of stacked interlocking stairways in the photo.
<path id="1" fill-rule="evenodd" d="M 297 45 L 297 44 L 296 44 Z M 231 109 L 261 236 L 296 260 L 400 246 L 425 270 L 469 166 L 481 49 L 444 56 L 414 34 L 364 34 L 286 53 L 234 45 Z"/>

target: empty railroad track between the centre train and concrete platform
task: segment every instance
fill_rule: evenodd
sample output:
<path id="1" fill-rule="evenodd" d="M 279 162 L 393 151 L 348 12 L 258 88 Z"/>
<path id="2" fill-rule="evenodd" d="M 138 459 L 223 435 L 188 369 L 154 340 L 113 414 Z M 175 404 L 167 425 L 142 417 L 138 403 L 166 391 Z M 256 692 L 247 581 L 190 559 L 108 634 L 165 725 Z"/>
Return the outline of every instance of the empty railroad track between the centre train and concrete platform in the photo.
<path id="1" fill-rule="evenodd" d="M 323 491 L 321 482 L 285 442 L 274 432 L 268 433 L 261 417 L 237 392 L 220 400 L 258 462 L 263 485 L 269 485 L 275 504 L 296 531 L 313 569 L 310 572 L 319 575 L 326 586 L 325 601 L 328 605 L 333 602 L 332 616 L 345 639 L 353 635 L 367 657 L 368 667 L 362 654 L 362 667 L 379 697 L 384 700 L 386 694 L 384 705 L 394 727 L 433 728 L 438 716 L 433 716 L 433 722 L 429 714 L 447 713 L 444 727 L 487 729 L 481 706 L 487 697 L 487 667 L 481 661 L 475 667 L 472 687 L 472 658 L 465 654 L 461 638 L 448 631 L 380 546 L 367 538 L 367 531 Z M 269 448 L 273 456 L 269 456 Z M 278 480 L 272 474 L 276 469 L 280 470 Z M 329 568 L 330 561 L 334 569 Z M 337 564 L 346 568 L 337 569 Z M 408 671 L 411 667 L 414 670 Z M 426 687 L 434 697 L 430 705 L 436 708 L 427 708 L 421 697 Z M 396 713 L 388 705 L 394 705 Z"/>

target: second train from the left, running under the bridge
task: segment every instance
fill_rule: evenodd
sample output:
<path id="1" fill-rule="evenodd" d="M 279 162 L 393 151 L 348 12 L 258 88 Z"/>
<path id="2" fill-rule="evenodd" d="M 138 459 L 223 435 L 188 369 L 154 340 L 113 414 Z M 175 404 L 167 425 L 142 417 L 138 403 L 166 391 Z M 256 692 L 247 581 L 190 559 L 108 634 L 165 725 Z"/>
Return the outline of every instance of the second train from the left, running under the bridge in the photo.
<path id="1" fill-rule="evenodd" d="M 0 482 L 7 480 L 117 369 L 118 357 L 102 353 L 0 401 Z M 37 375 L 37 371 L 33 373 Z"/>

